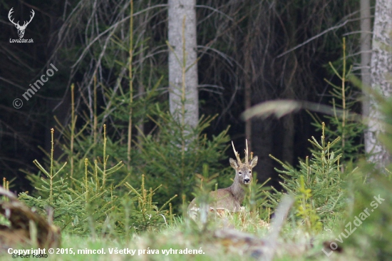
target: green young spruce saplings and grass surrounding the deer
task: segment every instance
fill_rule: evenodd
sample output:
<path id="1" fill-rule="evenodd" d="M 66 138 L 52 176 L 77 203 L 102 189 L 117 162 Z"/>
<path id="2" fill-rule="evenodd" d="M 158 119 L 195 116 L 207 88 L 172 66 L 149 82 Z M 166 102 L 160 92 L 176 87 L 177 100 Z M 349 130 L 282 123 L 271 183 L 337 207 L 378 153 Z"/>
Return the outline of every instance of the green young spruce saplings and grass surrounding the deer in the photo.
<path id="1" fill-rule="evenodd" d="M 352 113 L 353 100 L 348 102 L 356 79 L 345 58 L 340 74 L 330 65 L 341 85 L 331 83 L 331 115 L 314 116 L 320 136 L 309 137 L 309 156 L 292 166 L 271 155 L 282 165 L 277 169 L 282 188 L 269 187 L 268 180 L 254 182 L 244 210 L 215 213 L 204 221 L 188 218 L 187 204 L 194 196 L 227 187 L 234 176 L 225 156 L 227 130 L 203 134 L 214 117 L 202 117 L 197 128 L 188 128 L 156 102 L 155 86 L 130 104 L 135 118 L 155 124 L 150 134 L 133 140 L 130 150 L 118 145 L 118 135 L 110 136 L 128 128 L 126 113 L 113 116 L 117 126 L 98 126 L 96 119 L 107 111 L 83 123 L 72 111 L 69 126 L 57 126 L 63 140 L 54 140 L 52 129 L 48 160 L 35 160 L 38 172 L 26 173 L 35 190 L 19 194 L 22 203 L 61 229 L 61 248 L 48 260 L 391 258 L 392 169 L 379 170 L 364 160 L 356 143 L 364 127 Z M 113 98 L 113 107 L 123 101 Z M 142 103 L 154 105 L 138 111 Z M 391 117 L 390 99 L 381 106 Z M 388 131 L 383 142 L 391 148 Z M 55 148 L 63 153 L 57 159 Z"/>

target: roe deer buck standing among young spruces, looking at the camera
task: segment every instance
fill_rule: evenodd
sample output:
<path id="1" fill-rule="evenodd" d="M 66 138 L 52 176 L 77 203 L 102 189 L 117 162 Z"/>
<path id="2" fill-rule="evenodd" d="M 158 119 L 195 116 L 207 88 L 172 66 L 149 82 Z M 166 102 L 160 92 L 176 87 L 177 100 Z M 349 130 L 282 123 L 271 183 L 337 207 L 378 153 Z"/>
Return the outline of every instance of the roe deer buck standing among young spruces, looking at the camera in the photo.
<path id="1" fill-rule="evenodd" d="M 220 188 L 219 190 L 210 192 L 210 198 L 212 198 L 212 203 L 210 206 L 210 211 L 212 210 L 229 210 L 232 212 L 238 212 L 241 208 L 242 201 L 244 201 L 246 189 L 252 182 L 252 168 L 257 164 L 257 156 L 248 160 L 248 141 L 246 140 L 245 149 L 245 162 L 241 162 L 239 158 L 239 153 L 234 148 L 234 143 L 232 142 L 233 150 L 237 160 L 229 159 L 230 165 L 235 170 L 234 182 L 229 188 Z M 196 199 L 192 200 L 188 206 L 188 213 L 190 217 L 195 218 L 199 207 L 196 205 Z"/>

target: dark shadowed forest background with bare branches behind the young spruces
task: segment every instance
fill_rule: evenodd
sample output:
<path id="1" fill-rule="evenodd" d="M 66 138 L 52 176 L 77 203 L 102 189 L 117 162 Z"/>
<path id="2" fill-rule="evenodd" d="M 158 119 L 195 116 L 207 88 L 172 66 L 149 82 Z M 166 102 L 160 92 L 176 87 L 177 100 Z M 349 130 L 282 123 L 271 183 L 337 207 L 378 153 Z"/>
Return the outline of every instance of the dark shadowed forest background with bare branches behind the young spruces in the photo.
<path id="1" fill-rule="evenodd" d="M 167 110 L 166 4 L 134 1 L 134 99 L 140 99 L 138 108 L 144 108 L 135 116 L 135 140 L 155 131 L 156 122 L 148 118 L 149 110 L 155 110 L 153 105 Z M 8 19 L 11 8 L 15 21 L 21 23 L 29 19 L 31 9 L 35 11 L 24 36 L 33 39 L 33 44 L 10 43 L 18 38 Z M 54 117 L 63 126 L 71 123 L 72 83 L 79 117 L 76 127 L 81 130 L 99 115 L 98 135 L 106 123 L 113 150 L 118 153 L 115 158 L 132 165 L 125 153 L 124 123 L 117 115 L 121 112 L 116 114 L 113 108 L 117 107 L 110 107 L 117 102 L 121 108 L 123 103 L 108 96 L 129 81 L 129 14 L 129 1 L 124 0 L 0 0 L 0 173 L 12 180 L 11 190 L 31 190 L 26 172 L 36 173 L 33 160 L 41 162 L 50 152 L 50 129 L 58 126 Z M 277 185 L 277 165 L 269 154 L 296 165 L 298 158 L 309 155 L 308 139 L 320 133 L 314 131 L 306 111 L 280 119 L 254 118 L 248 123 L 240 115 L 249 104 L 279 98 L 330 104 L 331 86 L 324 78 L 339 83 L 328 63 L 340 68 L 344 36 L 347 61 L 354 66 L 354 74 L 359 74 L 358 1 L 200 0 L 197 23 L 200 115 L 217 115 L 202 133 L 211 138 L 230 126 L 229 138 L 239 151 L 243 151 L 244 138 L 249 138 L 254 155 L 259 156 L 254 168 L 259 182 L 272 178 L 270 184 Z M 29 84 L 36 82 L 50 63 L 58 71 L 25 101 L 22 95 Z M 143 100 L 149 90 L 154 90 L 154 99 Z M 351 95 L 351 101 L 358 97 L 355 90 Z M 96 97 L 96 103 L 91 97 Z M 14 108 L 15 98 L 24 102 L 22 108 Z M 97 104 L 96 112 L 93 104 Z M 354 110 L 360 113 L 360 104 Z M 55 156 L 63 161 L 65 136 L 55 132 Z M 94 139 L 91 143 L 98 142 Z M 229 157 L 233 157 L 231 148 L 217 158 L 226 168 Z"/>

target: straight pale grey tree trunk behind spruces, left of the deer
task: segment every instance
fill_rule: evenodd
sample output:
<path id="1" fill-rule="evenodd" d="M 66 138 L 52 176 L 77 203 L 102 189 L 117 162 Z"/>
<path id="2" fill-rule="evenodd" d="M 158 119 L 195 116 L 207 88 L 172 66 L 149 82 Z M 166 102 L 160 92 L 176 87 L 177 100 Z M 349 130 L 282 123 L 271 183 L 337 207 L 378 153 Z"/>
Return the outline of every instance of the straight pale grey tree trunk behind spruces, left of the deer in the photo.
<path id="1" fill-rule="evenodd" d="M 185 125 L 195 127 L 199 120 L 196 1 L 169 0 L 168 4 L 168 38 L 172 47 L 169 52 L 170 113 Z"/>

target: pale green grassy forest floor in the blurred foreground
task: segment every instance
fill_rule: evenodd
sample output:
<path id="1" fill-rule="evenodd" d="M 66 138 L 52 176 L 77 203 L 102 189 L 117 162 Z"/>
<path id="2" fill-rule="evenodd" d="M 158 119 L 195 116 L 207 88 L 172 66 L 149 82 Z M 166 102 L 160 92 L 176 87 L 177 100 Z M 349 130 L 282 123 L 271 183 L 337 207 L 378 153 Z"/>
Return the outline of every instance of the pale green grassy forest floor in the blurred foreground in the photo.
<path id="1" fill-rule="evenodd" d="M 48 254 L 46 250 L 47 257 L 43 255 L 40 258 L 70 261 L 356 260 L 350 255 L 354 250 L 342 251 L 339 246 L 339 252 L 331 252 L 331 249 L 324 248 L 325 242 L 334 239 L 331 231 L 324 230 L 311 237 L 301 227 L 286 224 L 274 241 L 270 239 L 271 230 L 271 224 L 258 219 L 212 218 L 206 225 L 201 225 L 177 218 L 172 225 L 160 230 L 133 233 L 128 240 L 104 235 L 83 237 L 63 233 L 61 248 L 53 248 L 53 254 Z M 273 259 L 269 259 L 269 255 L 273 255 Z M 37 256 L 33 255 L 14 257 L 8 253 L 0 256 L 0 260 L 35 258 Z"/>

